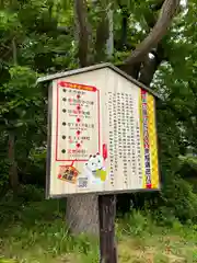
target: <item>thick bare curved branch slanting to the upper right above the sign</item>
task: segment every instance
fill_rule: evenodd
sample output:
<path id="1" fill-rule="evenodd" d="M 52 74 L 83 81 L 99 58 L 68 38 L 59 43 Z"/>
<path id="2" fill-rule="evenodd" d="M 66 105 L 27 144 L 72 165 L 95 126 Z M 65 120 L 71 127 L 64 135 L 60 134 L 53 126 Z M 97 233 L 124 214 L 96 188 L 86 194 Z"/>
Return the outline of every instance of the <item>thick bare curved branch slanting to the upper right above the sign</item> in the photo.
<path id="1" fill-rule="evenodd" d="M 179 0 L 165 0 L 162 5 L 160 16 L 150 34 L 137 46 L 132 54 L 126 59 L 126 64 L 141 62 L 146 55 L 158 45 L 166 34 L 172 23 L 173 16 L 179 5 Z"/>

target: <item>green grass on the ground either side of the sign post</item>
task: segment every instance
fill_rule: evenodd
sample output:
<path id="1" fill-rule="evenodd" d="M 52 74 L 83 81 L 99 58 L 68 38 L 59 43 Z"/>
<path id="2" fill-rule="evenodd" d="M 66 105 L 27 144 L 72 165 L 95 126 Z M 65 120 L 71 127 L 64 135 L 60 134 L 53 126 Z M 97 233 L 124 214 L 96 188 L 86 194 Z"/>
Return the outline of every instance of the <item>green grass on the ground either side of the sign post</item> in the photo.
<path id="1" fill-rule="evenodd" d="M 65 202 L 42 201 L 0 203 L 0 263 L 96 263 L 97 240 L 72 237 L 66 222 Z M 134 213 L 117 221 L 118 262 L 197 262 L 195 226 L 174 221 L 172 228 L 158 227 L 151 218 Z"/>

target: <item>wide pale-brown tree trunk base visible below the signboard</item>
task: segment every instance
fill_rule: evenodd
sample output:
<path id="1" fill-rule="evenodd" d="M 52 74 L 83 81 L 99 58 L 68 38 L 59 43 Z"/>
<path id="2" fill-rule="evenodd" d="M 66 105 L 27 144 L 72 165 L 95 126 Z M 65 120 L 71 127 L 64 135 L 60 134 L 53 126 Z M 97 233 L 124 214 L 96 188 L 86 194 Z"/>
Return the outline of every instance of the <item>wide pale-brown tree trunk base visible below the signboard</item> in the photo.
<path id="1" fill-rule="evenodd" d="M 99 206 L 96 195 L 67 198 L 66 220 L 73 233 L 99 235 Z"/>

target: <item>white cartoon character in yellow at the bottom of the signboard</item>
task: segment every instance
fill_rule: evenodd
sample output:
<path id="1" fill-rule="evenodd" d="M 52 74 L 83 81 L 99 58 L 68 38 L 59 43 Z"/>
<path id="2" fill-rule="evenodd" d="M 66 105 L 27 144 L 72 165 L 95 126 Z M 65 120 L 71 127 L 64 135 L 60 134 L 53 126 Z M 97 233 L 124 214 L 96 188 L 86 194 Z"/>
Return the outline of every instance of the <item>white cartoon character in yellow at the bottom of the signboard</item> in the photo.
<path id="1" fill-rule="evenodd" d="M 100 181 L 105 181 L 106 179 L 106 169 L 104 167 L 103 157 L 100 153 L 95 156 L 90 156 L 89 161 L 85 163 L 86 170 L 91 172 L 93 178 L 99 179 Z"/>

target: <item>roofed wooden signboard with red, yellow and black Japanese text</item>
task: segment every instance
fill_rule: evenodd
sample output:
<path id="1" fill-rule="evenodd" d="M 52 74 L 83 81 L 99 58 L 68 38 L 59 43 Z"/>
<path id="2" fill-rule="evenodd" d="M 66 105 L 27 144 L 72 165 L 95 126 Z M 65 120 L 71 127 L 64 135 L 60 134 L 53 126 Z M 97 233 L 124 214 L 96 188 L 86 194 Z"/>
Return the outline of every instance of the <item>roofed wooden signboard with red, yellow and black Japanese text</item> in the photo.
<path id="1" fill-rule="evenodd" d="M 160 188 L 150 90 L 111 65 L 49 80 L 48 197 Z"/>

